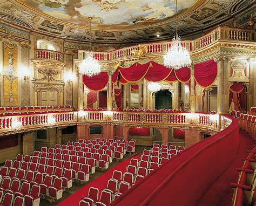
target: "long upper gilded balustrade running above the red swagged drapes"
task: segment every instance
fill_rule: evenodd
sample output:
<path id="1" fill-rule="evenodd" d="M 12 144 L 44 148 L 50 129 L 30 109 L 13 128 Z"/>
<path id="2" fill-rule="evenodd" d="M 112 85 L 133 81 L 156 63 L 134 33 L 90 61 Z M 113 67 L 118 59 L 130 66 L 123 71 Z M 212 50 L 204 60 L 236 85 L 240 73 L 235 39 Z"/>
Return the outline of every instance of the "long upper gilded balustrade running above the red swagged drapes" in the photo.
<path id="1" fill-rule="evenodd" d="M 204 36 L 194 40 L 184 40 L 183 44 L 188 51 L 193 54 L 198 50 L 204 49 L 220 40 L 225 41 L 244 41 L 254 42 L 256 32 L 251 29 L 241 28 L 228 28 L 226 26 L 219 26 L 214 30 L 206 33 Z M 146 43 L 146 57 L 163 56 L 167 49 L 171 46 L 172 42 L 154 42 Z M 133 50 L 139 50 L 139 45 L 124 47 L 122 49 L 114 50 L 111 52 L 95 52 L 95 58 L 104 63 L 112 63 L 114 61 L 123 61 L 136 59 L 136 55 L 132 53 Z M 79 59 L 82 59 L 85 51 L 79 50 Z"/>

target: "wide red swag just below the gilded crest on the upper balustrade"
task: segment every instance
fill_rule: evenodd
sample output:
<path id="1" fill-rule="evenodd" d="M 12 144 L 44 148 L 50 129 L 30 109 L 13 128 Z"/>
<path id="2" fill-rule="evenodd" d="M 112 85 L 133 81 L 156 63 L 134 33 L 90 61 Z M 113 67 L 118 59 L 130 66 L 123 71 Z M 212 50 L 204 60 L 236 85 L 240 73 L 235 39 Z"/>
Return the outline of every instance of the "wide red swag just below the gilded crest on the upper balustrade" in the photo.
<path id="1" fill-rule="evenodd" d="M 135 83 L 144 78 L 145 74 L 149 70 L 148 64 L 133 64 L 130 68 L 119 68 L 119 72 L 125 81 Z"/>

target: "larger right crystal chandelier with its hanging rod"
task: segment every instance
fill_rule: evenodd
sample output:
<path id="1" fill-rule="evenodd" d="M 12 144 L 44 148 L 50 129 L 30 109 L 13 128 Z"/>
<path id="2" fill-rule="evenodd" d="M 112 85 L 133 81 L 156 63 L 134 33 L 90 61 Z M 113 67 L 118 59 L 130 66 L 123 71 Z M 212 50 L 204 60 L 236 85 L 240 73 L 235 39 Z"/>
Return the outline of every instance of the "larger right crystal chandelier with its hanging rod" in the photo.
<path id="1" fill-rule="evenodd" d="M 179 70 L 182 67 L 191 65 L 190 53 L 188 53 L 186 47 L 182 45 L 181 38 L 178 36 L 177 13 L 178 7 L 176 0 L 176 36 L 173 37 L 171 48 L 164 56 L 164 65 L 167 68 L 173 68 L 174 70 Z"/>

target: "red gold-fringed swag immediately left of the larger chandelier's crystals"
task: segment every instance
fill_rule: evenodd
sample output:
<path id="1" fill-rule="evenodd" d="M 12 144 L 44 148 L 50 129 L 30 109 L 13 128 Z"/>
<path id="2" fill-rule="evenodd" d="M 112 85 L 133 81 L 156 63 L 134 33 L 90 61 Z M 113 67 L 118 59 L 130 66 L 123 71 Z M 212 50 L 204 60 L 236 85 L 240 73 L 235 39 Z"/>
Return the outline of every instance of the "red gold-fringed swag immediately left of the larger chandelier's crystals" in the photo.
<path id="1" fill-rule="evenodd" d="M 154 61 L 150 61 L 146 65 L 149 67 L 149 71 L 147 71 L 144 77 L 147 81 L 164 81 L 167 77 L 169 77 L 172 71 L 170 68 L 166 68 L 165 66 L 157 64 Z"/>

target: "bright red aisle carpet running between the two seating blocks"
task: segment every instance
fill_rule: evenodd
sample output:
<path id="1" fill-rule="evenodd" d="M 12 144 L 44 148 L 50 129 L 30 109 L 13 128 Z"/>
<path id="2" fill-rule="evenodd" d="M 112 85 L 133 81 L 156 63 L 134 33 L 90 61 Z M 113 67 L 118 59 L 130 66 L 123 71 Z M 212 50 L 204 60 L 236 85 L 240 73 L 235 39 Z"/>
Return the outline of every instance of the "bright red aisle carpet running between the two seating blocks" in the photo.
<path id="1" fill-rule="evenodd" d="M 67 205 L 79 205 L 79 201 L 83 199 L 88 194 L 90 187 L 95 187 L 99 189 L 99 195 L 102 189 L 106 188 L 107 181 L 112 177 L 114 170 L 122 171 L 123 173 L 126 171 L 126 166 L 130 163 L 130 159 L 139 159 L 140 154 L 130 157 L 127 160 L 120 162 L 117 166 L 111 168 L 109 171 L 100 175 L 98 178 L 86 184 L 85 187 L 76 191 L 76 193 L 70 195 L 64 201 L 57 204 L 58 206 L 67 206 Z"/>

